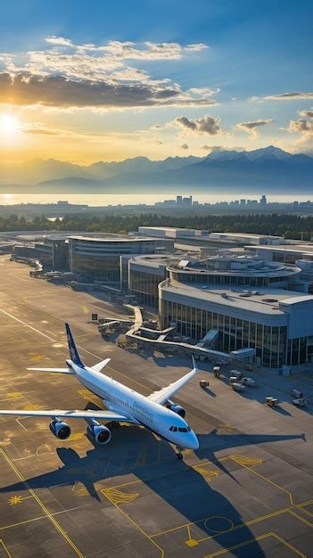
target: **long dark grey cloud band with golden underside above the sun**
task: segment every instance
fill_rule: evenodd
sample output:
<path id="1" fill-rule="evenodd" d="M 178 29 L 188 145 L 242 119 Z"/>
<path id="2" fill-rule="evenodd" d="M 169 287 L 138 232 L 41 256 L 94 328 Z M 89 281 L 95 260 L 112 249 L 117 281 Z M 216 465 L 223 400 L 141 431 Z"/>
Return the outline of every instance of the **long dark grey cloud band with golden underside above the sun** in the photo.
<path id="1" fill-rule="evenodd" d="M 197 99 L 177 85 L 153 82 L 116 83 L 111 79 L 70 79 L 0 73 L 0 103 L 18 106 L 40 104 L 58 108 L 125 109 L 130 107 L 202 106 L 212 100 Z M 216 103 L 216 102 L 214 102 Z"/>

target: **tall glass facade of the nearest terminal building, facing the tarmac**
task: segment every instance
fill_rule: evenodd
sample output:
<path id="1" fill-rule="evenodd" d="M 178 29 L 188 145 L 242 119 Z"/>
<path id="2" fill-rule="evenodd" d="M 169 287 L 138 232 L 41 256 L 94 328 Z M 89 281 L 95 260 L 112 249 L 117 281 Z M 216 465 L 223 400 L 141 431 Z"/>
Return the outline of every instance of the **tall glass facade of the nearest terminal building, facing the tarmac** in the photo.
<path id="1" fill-rule="evenodd" d="M 177 333 L 200 341 L 210 329 L 218 331 L 218 349 L 226 351 L 256 349 L 257 363 L 268 368 L 305 363 L 313 357 L 313 338 L 287 343 L 286 326 L 270 326 L 248 322 L 236 317 L 216 314 L 210 310 L 193 308 L 170 300 L 160 300 L 162 328 L 177 324 Z"/>

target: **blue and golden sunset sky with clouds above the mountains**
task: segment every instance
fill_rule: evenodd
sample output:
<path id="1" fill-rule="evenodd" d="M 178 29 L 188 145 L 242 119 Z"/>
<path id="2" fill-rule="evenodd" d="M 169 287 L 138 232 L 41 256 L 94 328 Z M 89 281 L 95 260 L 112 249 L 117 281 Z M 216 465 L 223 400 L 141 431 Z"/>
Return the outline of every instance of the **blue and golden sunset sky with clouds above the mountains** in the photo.
<path id="1" fill-rule="evenodd" d="M 312 16 L 309 1 L 3 2 L 0 114 L 18 134 L 0 144 L 16 160 L 79 162 L 311 153 Z"/>

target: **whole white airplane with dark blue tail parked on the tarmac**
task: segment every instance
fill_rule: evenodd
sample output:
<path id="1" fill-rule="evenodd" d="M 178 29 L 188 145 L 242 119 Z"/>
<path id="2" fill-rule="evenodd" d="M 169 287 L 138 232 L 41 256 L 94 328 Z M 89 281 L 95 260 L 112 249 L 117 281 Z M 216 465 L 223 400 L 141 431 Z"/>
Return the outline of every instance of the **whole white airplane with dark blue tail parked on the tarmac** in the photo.
<path id="1" fill-rule="evenodd" d="M 65 324 L 65 328 L 70 349 L 70 359 L 66 360 L 68 367 L 28 368 L 28 370 L 73 374 L 78 378 L 78 382 L 103 399 L 103 404 L 108 410 L 0 410 L 0 414 L 50 417 L 52 419 L 50 430 L 58 439 L 70 437 L 70 426 L 65 423 L 64 419 L 86 419 L 88 422 L 87 436 L 100 445 L 110 442 L 111 431 L 107 426 L 99 423 L 99 420 L 111 421 L 113 424 L 130 423 L 145 426 L 161 438 L 175 444 L 178 459 L 183 458 L 182 451 L 184 449 L 197 449 L 199 447 L 194 431 L 185 422 L 185 409 L 173 403 L 170 399 L 197 373 L 194 358 L 194 369 L 191 372 L 186 373 L 177 382 L 169 384 L 167 388 L 154 391 L 148 397 L 144 397 L 144 395 L 130 390 L 122 383 L 116 382 L 116 380 L 101 373 L 111 358 L 106 358 L 94 366 L 84 365 L 78 355 L 78 349 L 70 332 L 70 325 Z"/>

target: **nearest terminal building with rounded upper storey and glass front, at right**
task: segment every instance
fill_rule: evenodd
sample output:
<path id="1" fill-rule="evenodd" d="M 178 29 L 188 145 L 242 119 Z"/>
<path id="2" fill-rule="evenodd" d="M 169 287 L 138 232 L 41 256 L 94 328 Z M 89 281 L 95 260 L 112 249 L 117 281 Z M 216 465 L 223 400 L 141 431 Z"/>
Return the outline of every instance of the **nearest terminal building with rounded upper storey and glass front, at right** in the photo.
<path id="1" fill-rule="evenodd" d="M 168 270 L 159 285 L 162 328 L 176 324 L 194 341 L 214 330 L 217 349 L 255 349 L 268 368 L 313 360 L 313 296 L 289 290 L 299 268 L 224 254 Z"/>

